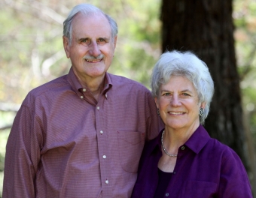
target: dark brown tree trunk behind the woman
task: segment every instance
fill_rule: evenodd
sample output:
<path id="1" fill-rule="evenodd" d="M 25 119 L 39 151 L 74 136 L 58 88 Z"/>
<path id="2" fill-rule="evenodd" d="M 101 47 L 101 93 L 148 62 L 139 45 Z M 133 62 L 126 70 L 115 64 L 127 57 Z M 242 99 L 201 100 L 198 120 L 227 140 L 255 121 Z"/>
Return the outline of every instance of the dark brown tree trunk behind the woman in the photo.
<path id="1" fill-rule="evenodd" d="M 232 0 L 163 0 L 161 11 L 163 52 L 190 50 L 206 62 L 215 82 L 206 130 L 210 136 L 233 148 L 248 170 Z"/>

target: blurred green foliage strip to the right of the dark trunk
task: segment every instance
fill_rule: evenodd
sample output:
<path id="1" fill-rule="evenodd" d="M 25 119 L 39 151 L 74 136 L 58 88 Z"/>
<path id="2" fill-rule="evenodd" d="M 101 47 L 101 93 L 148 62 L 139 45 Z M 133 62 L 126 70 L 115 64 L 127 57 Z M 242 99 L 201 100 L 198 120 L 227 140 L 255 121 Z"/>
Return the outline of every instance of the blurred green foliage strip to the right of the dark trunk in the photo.
<path id="1" fill-rule="evenodd" d="M 253 161 L 253 155 L 256 153 L 256 1 L 234 0 L 233 3 L 236 59 L 241 80 L 244 124 L 248 142 L 251 142 L 251 148 L 248 148 Z M 255 185 L 255 173 L 251 175 L 251 181 L 254 181 L 251 184 Z M 255 190 L 253 191 L 255 193 Z"/>

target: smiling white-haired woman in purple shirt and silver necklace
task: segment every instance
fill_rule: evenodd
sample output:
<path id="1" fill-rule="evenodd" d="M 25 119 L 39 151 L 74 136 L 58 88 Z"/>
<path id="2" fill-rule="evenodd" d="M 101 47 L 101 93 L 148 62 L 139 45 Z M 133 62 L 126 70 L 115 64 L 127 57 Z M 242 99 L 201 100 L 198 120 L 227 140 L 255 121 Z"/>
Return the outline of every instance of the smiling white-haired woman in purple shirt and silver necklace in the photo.
<path id="1" fill-rule="evenodd" d="M 165 52 L 151 89 L 165 127 L 145 145 L 132 197 L 252 197 L 238 155 L 202 126 L 214 92 L 206 64 L 191 52 Z"/>

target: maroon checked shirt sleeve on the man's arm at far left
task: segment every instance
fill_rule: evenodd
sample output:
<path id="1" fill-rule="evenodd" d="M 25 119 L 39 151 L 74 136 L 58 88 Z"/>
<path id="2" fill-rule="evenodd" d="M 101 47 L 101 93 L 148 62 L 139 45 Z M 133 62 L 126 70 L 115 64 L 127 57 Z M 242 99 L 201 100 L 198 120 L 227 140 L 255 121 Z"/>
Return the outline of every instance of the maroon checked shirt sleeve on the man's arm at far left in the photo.
<path id="1" fill-rule="evenodd" d="M 35 197 L 35 172 L 40 146 L 34 115 L 29 107 L 20 107 L 8 137 L 5 155 L 3 197 Z"/>

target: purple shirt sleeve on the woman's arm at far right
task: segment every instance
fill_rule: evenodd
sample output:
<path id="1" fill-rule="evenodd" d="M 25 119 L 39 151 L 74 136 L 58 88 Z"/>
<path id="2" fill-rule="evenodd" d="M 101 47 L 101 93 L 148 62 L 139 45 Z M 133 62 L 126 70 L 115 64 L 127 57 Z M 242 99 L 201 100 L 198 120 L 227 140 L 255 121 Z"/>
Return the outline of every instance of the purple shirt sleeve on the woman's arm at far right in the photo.
<path id="1" fill-rule="evenodd" d="M 218 197 L 252 198 L 251 184 L 245 167 L 235 151 L 224 152 Z"/>

